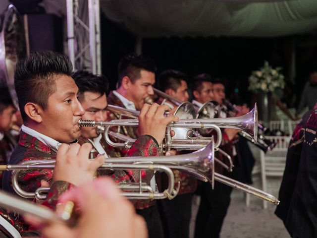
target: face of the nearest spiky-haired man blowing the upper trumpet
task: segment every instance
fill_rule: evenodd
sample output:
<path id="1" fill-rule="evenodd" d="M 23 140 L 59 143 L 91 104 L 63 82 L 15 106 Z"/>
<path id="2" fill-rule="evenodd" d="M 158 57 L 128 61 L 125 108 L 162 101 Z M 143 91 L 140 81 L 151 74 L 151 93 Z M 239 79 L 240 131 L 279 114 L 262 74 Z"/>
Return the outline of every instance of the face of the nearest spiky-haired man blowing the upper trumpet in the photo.
<path id="1" fill-rule="evenodd" d="M 42 126 L 45 135 L 61 143 L 77 139 L 81 132 L 77 122 L 85 111 L 77 99 L 78 87 L 67 75 L 55 76 L 56 91 L 48 99 L 43 111 Z"/>

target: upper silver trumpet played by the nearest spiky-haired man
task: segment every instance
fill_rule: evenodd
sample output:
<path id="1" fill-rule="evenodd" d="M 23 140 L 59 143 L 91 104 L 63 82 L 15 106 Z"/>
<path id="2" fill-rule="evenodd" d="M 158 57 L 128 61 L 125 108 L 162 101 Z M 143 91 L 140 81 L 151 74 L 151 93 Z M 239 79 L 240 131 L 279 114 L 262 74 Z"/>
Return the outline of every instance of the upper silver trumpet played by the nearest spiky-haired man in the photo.
<path id="1" fill-rule="evenodd" d="M 113 147 L 125 147 L 129 148 L 134 139 L 127 141 L 126 143 L 114 143 L 109 138 L 109 128 L 111 126 L 138 126 L 138 119 L 116 119 L 111 121 L 94 121 L 94 120 L 82 120 L 78 121 L 79 127 L 93 127 L 93 126 L 105 126 L 105 139 L 106 142 Z M 215 142 L 215 148 L 218 148 L 221 143 L 221 130 L 220 128 L 233 128 L 243 130 L 250 135 L 254 141 L 257 141 L 258 134 L 258 112 L 257 105 L 248 114 L 236 118 L 215 118 L 215 119 L 180 119 L 178 122 L 169 123 L 166 127 L 165 142 L 162 145 L 163 148 L 170 150 L 171 148 L 177 150 L 188 149 L 191 150 L 200 149 L 211 140 L 210 137 L 195 138 L 191 137 L 187 130 L 186 139 L 174 139 L 170 135 L 170 131 L 177 128 L 212 128 L 217 133 L 217 141 Z M 190 129 L 192 132 L 192 130 Z M 177 131 L 175 132 L 177 134 Z"/>

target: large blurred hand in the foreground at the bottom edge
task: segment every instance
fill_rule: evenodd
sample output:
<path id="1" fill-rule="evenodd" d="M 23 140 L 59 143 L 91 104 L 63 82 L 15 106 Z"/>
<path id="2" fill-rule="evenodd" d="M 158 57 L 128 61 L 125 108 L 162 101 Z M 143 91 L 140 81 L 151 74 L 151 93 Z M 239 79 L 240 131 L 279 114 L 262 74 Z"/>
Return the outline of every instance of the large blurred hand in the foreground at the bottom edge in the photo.
<path id="1" fill-rule="evenodd" d="M 148 237 L 144 219 L 135 213 L 133 205 L 119 194 L 109 178 L 96 179 L 64 193 L 60 202 L 66 201 L 80 207 L 78 225 L 69 228 L 58 223 L 46 224 L 42 231 L 44 238 Z"/>

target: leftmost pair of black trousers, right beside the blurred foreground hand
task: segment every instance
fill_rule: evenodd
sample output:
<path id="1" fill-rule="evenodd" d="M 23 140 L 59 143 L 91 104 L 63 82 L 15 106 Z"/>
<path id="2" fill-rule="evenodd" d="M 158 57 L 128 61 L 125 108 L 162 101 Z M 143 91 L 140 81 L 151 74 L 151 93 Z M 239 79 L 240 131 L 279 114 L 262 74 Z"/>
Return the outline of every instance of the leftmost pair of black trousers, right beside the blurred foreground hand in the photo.
<path id="1" fill-rule="evenodd" d="M 146 221 L 149 238 L 164 238 L 157 205 L 145 209 L 137 209 L 136 212 Z"/>

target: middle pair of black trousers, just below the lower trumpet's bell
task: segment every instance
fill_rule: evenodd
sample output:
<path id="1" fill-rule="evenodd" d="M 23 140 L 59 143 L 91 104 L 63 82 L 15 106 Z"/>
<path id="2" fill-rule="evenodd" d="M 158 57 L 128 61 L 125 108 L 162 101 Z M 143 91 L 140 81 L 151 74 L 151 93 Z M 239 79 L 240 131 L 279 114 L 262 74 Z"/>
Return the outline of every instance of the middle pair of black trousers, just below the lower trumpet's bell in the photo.
<path id="1" fill-rule="evenodd" d="M 169 238 L 188 238 L 192 214 L 193 193 L 177 195 L 172 200 L 162 200 Z"/>

